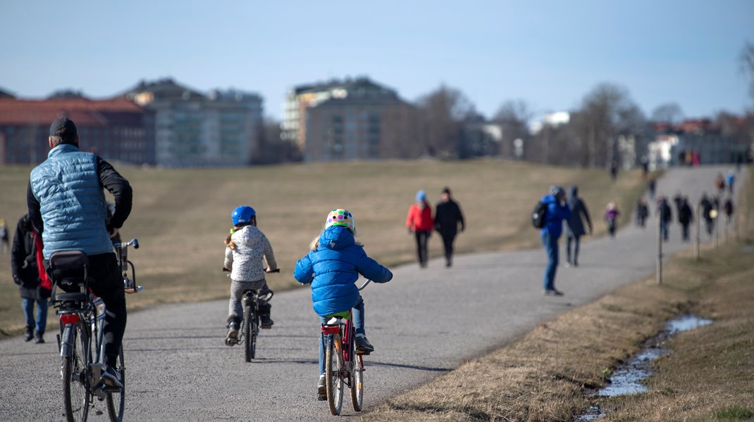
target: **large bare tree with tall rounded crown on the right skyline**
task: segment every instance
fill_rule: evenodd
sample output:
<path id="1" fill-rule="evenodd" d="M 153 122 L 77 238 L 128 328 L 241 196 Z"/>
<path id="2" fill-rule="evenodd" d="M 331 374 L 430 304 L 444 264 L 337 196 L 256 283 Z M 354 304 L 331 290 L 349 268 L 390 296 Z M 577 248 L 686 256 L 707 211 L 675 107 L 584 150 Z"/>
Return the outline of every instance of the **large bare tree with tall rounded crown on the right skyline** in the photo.
<path id="1" fill-rule="evenodd" d="M 618 135 L 642 132 L 644 115 L 625 88 L 600 83 L 584 96 L 572 124 L 581 140 L 581 165 L 596 167 L 618 158 Z"/>

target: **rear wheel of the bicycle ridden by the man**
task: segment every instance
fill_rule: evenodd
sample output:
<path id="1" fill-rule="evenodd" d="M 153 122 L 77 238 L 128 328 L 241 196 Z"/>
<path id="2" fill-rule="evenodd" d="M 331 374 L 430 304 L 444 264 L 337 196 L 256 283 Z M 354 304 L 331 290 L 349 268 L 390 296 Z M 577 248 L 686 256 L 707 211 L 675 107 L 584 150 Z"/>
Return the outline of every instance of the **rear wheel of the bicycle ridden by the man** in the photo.
<path id="1" fill-rule="evenodd" d="M 89 414 L 88 363 L 91 359 L 89 326 L 79 320 L 63 330 L 64 345 L 70 345 L 69 356 L 63 357 L 63 408 L 68 422 L 85 422 Z M 87 353 L 89 351 L 89 353 Z"/>

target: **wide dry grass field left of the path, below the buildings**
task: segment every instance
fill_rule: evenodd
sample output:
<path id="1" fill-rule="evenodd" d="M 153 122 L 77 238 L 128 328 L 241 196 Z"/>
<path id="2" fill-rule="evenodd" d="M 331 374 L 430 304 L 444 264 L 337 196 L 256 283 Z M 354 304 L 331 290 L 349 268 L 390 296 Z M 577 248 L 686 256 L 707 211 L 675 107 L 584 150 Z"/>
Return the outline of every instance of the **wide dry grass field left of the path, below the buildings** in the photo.
<path id="1" fill-rule="evenodd" d="M 121 234 L 139 238 L 130 254 L 143 293 L 128 296 L 129 308 L 163 302 L 219 299 L 227 295 L 220 272 L 230 214 L 251 205 L 259 228 L 275 251 L 280 275 L 268 276 L 271 288 L 296 285 L 293 268 L 308 252 L 327 213 L 354 213 L 358 239 L 367 254 L 387 266 L 414 260 L 414 242 L 405 221 L 418 189 L 434 203 L 450 187 L 467 219 L 456 241 L 458 254 L 511 250 L 539 244 L 529 222 L 535 202 L 550 184 L 577 184 L 593 213 L 595 235 L 605 232 L 605 204 L 616 201 L 624 222 L 644 189 L 638 171 L 624 172 L 615 183 L 605 170 L 553 168 L 521 162 L 348 162 L 250 168 L 161 169 L 118 165 L 132 184 L 133 211 Z M 26 212 L 30 167 L 0 167 L 0 217 L 14 232 Z M 431 257 L 441 256 L 439 236 L 431 238 Z M 51 320 L 54 314 L 51 313 Z M 23 316 L 8 256 L 0 261 L 0 337 L 20 332 Z"/>

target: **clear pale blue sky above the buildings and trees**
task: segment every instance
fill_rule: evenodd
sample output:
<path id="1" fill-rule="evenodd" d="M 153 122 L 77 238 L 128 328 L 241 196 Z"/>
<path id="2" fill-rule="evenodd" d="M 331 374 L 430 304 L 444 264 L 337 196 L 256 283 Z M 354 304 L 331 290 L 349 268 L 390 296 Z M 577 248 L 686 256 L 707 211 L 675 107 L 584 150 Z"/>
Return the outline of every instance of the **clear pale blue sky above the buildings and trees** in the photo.
<path id="1" fill-rule="evenodd" d="M 645 114 L 752 108 L 738 56 L 754 43 L 754 2 L 0 2 L 0 88 L 113 96 L 173 77 L 198 90 L 261 94 L 282 117 L 291 87 L 366 75 L 409 101 L 441 83 L 487 117 L 523 99 L 577 108 L 597 83 L 626 88 Z"/>

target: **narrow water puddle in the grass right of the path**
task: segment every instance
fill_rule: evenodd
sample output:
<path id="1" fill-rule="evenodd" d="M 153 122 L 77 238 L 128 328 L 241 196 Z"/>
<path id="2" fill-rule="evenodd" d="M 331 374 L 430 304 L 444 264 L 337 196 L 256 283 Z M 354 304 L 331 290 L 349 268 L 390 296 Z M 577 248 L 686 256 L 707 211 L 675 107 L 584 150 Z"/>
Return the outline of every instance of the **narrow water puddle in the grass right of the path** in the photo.
<path id="1" fill-rule="evenodd" d="M 593 396 L 613 397 L 625 396 L 647 392 L 647 387 L 642 381 L 651 375 L 652 362 L 658 357 L 665 356 L 667 349 L 662 345 L 665 341 L 679 332 L 689 331 L 691 329 L 705 326 L 712 323 L 696 315 L 685 314 L 665 323 L 665 329 L 645 342 L 644 348 L 636 356 L 632 357 L 626 363 L 615 370 L 610 376 L 610 384 L 601 390 L 597 390 Z M 605 416 L 599 407 L 593 406 L 589 411 L 579 415 L 576 422 L 586 420 L 596 420 Z"/>

